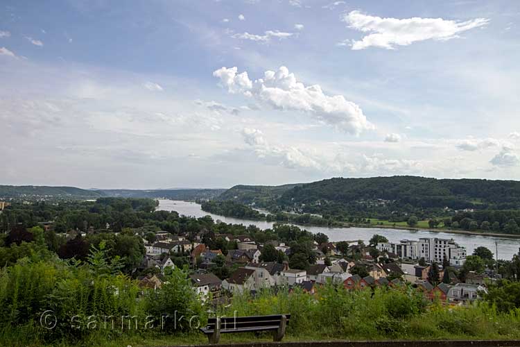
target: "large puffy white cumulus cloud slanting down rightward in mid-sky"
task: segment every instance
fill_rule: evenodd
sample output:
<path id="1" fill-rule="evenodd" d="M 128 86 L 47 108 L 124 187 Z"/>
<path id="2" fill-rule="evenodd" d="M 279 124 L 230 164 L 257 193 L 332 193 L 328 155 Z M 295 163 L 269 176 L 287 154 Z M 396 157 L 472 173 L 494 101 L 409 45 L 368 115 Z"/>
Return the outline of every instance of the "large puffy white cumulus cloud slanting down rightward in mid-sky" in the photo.
<path id="1" fill-rule="evenodd" d="M 308 112 L 318 121 L 345 133 L 358 135 L 363 130 L 374 129 L 356 103 L 347 101 L 343 95 L 328 96 L 320 85 L 306 86 L 298 82 L 286 67 L 266 71 L 263 78 L 254 82 L 247 72 L 237 74 L 237 71 L 236 67 L 222 67 L 214 71 L 213 76 L 219 78 L 220 85 L 230 93 L 252 96 L 279 110 Z"/>

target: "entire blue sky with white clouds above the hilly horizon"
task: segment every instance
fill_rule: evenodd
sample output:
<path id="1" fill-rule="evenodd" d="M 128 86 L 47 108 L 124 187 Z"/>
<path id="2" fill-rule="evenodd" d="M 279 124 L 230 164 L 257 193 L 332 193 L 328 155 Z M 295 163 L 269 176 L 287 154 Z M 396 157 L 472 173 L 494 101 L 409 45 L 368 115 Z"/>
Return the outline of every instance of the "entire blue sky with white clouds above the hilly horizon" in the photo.
<path id="1" fill-rule="evenodd" d="M 0 3 L 0 184 L 520 180 L 520 1 Z"/>

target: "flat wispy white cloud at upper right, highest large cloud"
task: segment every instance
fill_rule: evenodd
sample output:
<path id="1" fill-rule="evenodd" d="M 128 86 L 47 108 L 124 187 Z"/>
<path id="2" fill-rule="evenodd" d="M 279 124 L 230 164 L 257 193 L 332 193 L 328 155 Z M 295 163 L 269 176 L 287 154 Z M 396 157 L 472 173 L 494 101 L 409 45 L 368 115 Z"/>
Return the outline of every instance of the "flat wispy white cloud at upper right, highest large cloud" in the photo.
<path id="1" fill-rule="evenodd" d="M 413 42 L 424 40 L 450 40 L 458 34 L 472 28 L 485 26 L 489 19 L 476 18 L 466 22 L 457 22 L 442 18 L 408 19 L 381 18 L 363 15 L 358 10 L 343 16 L 349 28 L 367 33 L 360 41 L 352 41 L 352 49 L 366 49 L 374 46 L 395 49 L 395 46 L 408 46 Z M 343 44 L 346 42 L 344 41 Z"/>

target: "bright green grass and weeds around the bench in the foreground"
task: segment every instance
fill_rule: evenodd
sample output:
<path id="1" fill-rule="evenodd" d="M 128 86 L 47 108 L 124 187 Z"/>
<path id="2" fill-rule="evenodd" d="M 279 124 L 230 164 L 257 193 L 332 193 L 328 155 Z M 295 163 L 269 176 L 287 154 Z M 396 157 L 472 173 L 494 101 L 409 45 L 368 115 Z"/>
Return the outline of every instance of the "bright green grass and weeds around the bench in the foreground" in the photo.
<path id="1" fill-rule="evenodd" d="M 229 306 L 219 307 L 218 314 L 232 316 L 291 313 L 291 323 L 284 341 L 330 340 L 478 340 L 520 339 L 520 309 L 499 312 L 480 303 L 451 307 L 426 301 L 422 293 L 411 287 L 347 291 L 343 286 L 325 285 L 315 295 L 298 289 L 289 293 L 279 289 L 259 291 L 256 296 L 236 295 Z M 147 332 L 138 335 L 106 336 L 101 332 L 86 335 L 79 343 L 38 340 L 33 327 L 16 326 L 0 331 L 0 346 L 10 347 L 155 347 L 207 344 L 197 330 L 173 335 Z M 33 330 L 31 330 L 33 329 Z M 71 332 L 73 333 L 73 332 Z M 225 334 L 220 342 L 272 341 L 270 333 L 254 335 Z"/>

